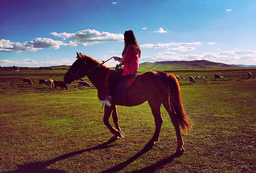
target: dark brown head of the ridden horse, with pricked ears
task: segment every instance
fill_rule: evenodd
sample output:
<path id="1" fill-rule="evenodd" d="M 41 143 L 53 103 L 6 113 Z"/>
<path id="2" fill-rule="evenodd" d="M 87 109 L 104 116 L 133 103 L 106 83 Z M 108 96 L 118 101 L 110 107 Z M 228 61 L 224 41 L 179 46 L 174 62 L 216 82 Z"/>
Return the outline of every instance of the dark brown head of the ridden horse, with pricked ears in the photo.
<path id="1" fill-rule="evenodd" d="M 71 84 L 73 81 L 85 77 L 87 71 L 86 57 L 81 53 L 77 53 L 77 60 L 71 65 L 69 71 L 65 74 L 64 82 Z"/>

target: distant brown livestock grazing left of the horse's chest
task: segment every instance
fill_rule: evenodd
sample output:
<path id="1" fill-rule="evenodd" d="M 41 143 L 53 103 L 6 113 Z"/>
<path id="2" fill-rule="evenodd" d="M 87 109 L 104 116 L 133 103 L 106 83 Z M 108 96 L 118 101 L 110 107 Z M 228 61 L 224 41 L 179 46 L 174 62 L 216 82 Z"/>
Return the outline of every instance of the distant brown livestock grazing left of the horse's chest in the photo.
<path id="1" fill-rule="evenodd" d="M 29 78 L 23 79 L 23 85 L 33 85 L 33 82 Z M 45 80 L 45 79 L 39 79 L 39 86 L 49 86 L 49 88 L 53 88 L 53 90 L 57 90 L 57 86 L 61 87 L 61 90 L 65 88 L 66 90 L 69 90 L 69 86 L 67 86 L 64 81 L 54 81 L 53 79 Z M 78 88 L 82 88 L 83 86 L 92 87 L 89 83 L 85 81 L 79 81 L 78 82 Z"/>

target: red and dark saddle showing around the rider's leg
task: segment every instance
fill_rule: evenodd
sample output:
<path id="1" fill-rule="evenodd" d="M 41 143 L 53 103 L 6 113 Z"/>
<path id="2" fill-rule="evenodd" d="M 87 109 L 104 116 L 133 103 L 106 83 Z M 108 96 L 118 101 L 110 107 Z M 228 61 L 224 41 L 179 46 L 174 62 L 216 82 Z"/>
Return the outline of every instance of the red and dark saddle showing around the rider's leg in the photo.
<path id="1" fill-rule="evenodd" d="M 105 78 L 105 86 L 109 86 L 109 79 L 111 77 L 111 75 L 114 73 L 113 70 L 110 70 L 107 73 L 107 76 Z M 115 90 L 115 98 L 123 98 L 124 94 L 125 94 L 125 90 L 127 88 L 129 88 L 135 81 L 135 77 L 137 77 L 137 73 L 133 74 L 133 75 L 129 75 L 129 76 L 125 76 L 123 77 L 123 79 L 121 79 L 118 83 L 117 83 L 117 89 Z"/>

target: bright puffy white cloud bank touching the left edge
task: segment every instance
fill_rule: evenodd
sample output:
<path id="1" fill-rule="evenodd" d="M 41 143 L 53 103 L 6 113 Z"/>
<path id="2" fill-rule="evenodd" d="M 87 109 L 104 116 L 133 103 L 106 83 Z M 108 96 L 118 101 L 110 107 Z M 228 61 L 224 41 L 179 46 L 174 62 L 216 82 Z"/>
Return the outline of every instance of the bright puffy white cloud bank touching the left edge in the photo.
<path id="1" fill-rule="evenodd" d="M 62 41 L 54 41 L 49 38 L 37 38 L 25 43 L 12 42 L 0 39 L 0 52 L 22 52 L 22 51 L 38 51 L 44 48 L 59 49 L 61 45 L 67 45 Z"/>

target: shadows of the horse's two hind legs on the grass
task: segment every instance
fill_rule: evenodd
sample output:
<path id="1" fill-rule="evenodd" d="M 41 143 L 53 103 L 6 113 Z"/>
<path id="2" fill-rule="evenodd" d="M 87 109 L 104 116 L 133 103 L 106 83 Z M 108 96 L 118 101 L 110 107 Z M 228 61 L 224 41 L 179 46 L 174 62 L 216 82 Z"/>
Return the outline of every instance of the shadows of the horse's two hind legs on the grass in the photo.
<path id="1" fill-rule="evenodd" d="M 131 162 L 137 160 L 137 158 L 139 158 L 140 156 L 142 156 L 143 154 L 145 154 L 146 152 L 148 152 L 151 149 L 152 149 L 152 147 L 147 147 L 147 145 L 146 145 L 140 152 L 138 152 L 137 154 L 135 154 L 133 157 L 129 158 L 125 162 L 117 164 L 116 166 L 109 168 L 108 170 L 104 170 L 101 173 L 118 172 L 120 170 L 123 170 L 123 168 L 125 168 L 126 166 L 131 164 Z M 165 164 L 172 162 L 174 158 L 177 158 L 177 157 L 181 156 L 182 154 L 183 153 L 175 153 L 167 158 L 164 158 L 163 160 L 160 160 L 159 162 L 157 162 L 155 164 L 152 164 L 151 166 L 147 166 L 145 168 L 142 168 L 141 170 L 135 170 L 133 172 L 155 172 L 156 170 L 163 168 L 163 166 L 165 166 Z"/>

